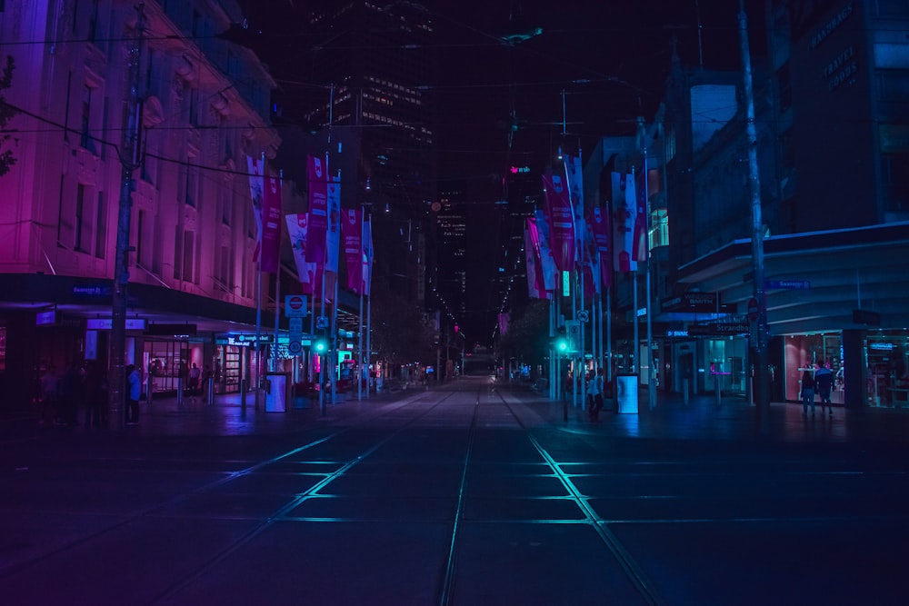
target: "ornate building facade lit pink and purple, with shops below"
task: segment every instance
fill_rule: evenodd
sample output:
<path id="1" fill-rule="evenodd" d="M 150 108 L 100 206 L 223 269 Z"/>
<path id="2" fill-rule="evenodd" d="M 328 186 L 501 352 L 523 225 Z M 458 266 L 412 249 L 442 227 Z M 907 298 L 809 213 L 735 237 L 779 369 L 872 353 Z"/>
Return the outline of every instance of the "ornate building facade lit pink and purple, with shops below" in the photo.
<path id="1" fill-rule="evenodd" d="M 13 0 L 0 12 L 0 52 L 15 59 L 5 96 L 18 112 L 15 164 L 0 177 L 8 405 L 40 397 L 45 373 L 106 368 L 134 47 L 142 118 L 125 201 L 126 360 L 154 392 L 175 390 L 193 363 L 228 391 L 255 373 L 255 356 L 232 335 L 255 324 L 246 156 L 273 157 L 280 144 L 267 118 L 275 83 L 251 51 L 215 36 L 241 20 L 235 2 L 138 7 Z"/>

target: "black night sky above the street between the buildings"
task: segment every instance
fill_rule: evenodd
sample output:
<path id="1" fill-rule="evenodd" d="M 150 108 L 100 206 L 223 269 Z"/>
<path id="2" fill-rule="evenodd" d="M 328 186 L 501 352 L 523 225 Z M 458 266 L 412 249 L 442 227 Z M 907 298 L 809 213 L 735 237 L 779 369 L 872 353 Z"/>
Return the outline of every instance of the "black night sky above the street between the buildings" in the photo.
<path id="1" fill-rule="evenodd" d="M 241 0 L 250 30 L 261 31 L 256 52 L 291 99 L 295 91 L 312 94 L 300 84 L 306 57 L 320 39 L 305 31 L 310 4 Z M 634 134 L 634 118 L 652 117 L 663 97 L 674 39 L 683 65 L 695 67 L 703 57 L 707 69 L 741 68 L 738 0 L 421 4 L 434 15 L 438 34 L 433 51 L 439 70 L 425 86 L 435 93 L 439 189 L 464 185 L 474 192 L 474 204 L 494 203 L 508 166 L 539 171 L 559 145 L 583 156 L 599 136 Z M 745 5 L 753 55 L 764 52 L 763 4 Z M 537 27 L 542 34 L 523 42 L 502 40 Z M 512 114 L 518 129 L 509 144 Z M 478 331 L 489 332 L 485 324 L 492 328 L 496 311 L 475 310 L 492 318 Z"/>

